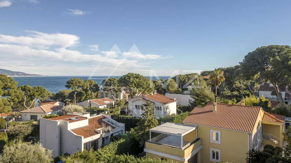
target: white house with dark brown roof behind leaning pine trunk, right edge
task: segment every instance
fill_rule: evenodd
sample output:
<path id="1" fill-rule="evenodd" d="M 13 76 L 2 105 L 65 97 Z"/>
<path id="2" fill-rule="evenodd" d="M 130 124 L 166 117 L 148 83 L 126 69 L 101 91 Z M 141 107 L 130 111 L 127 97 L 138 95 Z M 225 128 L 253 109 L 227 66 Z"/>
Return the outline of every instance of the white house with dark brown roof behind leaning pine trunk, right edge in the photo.
<path id="1" fill-rule="evenodd" d="M 291 104 L 291 86 L 278 86 L 282 99 L 285 104 Z M 278 101 L 276 96 L 271 95 L 272 91 L 274 91 L 274 86 L 270 82 L 263 82 L 259 88 L 259 97 L 264 95 L 267 99 L 271 99 L 274 101 Z"/>

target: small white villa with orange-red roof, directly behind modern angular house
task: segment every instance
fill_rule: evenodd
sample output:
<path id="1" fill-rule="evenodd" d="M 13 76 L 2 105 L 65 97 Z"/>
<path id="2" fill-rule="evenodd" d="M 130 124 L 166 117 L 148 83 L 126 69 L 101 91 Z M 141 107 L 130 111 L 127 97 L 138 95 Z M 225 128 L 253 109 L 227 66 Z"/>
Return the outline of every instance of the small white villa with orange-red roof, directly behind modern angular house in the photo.
<path id="1" fill-rule="evenodd" d="M 109 98 L 102 98 L 102 99 L 90 99 L 83 102 L 77 103 L 77 105 L 81 105 L 84 108 L 110 108 L 114 106 L 114 101 Z"/>

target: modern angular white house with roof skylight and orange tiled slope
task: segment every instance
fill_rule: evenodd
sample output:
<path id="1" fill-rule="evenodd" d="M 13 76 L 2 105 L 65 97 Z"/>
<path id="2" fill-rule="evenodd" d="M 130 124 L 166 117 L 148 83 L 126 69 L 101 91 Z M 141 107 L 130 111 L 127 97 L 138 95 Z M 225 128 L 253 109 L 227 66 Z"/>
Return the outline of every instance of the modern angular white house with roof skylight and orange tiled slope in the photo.
<path id="1" fill-rule="evenodd" d="M 112 132 L 102 133 L 102 123 L 113 128 Z M 107 145 L 110 137 L 124 134 L 123 123 L 111 119 L 110 115 L 68 113 L 49 119 L 40 118 L 40 143 L 52 150 L 53 157 L 60 154 L 72 154 Z"/>

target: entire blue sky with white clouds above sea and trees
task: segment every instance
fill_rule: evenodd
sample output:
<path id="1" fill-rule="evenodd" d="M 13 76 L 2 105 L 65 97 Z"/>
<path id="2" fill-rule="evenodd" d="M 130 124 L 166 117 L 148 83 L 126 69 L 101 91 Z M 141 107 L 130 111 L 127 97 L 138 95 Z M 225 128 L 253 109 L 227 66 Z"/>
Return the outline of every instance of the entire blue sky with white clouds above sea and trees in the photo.
<path id="1" fill-rule="evenodd" d="M 199 73 L 291 45 L 291 1 L 0 0 L 0 68 L 51 76 Z"/>

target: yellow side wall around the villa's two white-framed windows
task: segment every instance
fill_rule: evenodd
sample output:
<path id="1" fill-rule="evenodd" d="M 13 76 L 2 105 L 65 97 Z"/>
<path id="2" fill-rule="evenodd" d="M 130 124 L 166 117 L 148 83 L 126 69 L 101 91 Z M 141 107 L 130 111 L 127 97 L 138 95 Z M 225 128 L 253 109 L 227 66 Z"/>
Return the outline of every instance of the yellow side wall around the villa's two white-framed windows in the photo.
<path id="1" fill-rule="evenodd" d="M 210 161 L 210 148 L 220 150 L 221 161 L 246 162 L 246 153 L 249 151 L 249 135 L 246 132 L 201 125 L 197 125 L 197 130 L 198 138 L 202 140 L 203 145 L 200 150 L 201 162 L 212 162 Z M 220 144 L 210 142 L 210 130 L 220 131 Z"/>

